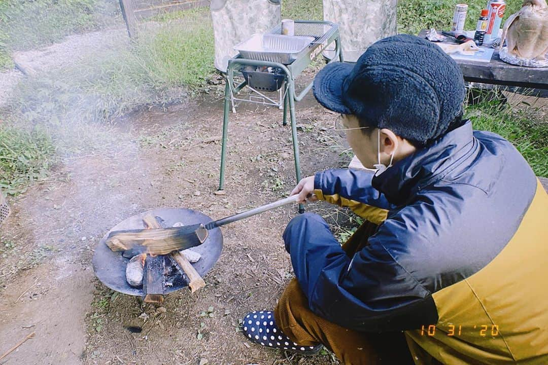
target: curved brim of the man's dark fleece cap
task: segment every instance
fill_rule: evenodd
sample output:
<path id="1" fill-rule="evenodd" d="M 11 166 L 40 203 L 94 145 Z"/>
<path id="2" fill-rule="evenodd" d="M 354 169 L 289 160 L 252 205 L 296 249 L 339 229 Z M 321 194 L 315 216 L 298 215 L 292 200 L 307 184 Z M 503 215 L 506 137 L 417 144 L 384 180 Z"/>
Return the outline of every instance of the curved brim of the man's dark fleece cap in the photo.
<path id="1" fill-rule="evenodd" d="M 343 102 L 343 83 L 354 68 L 352 63 L 333 62 L 314 78 L 313 91 L 318 103 L 336 113 L 352 114 Z"/>

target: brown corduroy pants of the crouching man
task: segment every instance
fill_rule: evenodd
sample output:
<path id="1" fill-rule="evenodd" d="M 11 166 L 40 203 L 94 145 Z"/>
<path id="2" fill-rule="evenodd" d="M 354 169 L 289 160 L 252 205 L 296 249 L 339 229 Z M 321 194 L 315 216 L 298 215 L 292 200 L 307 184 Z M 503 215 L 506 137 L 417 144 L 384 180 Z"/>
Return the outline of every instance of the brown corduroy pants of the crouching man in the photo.
<path id="1" fill-rule="evenodd" d="M 343 245 L 349 256 L 367 244 L 376 225 L 366 222 Z M 344 308 L 340 309 L 344 311 Z M 274 310 L 277 326 L 292 341 L 303 346 L 323 344 L 344 364 L 413 364 L 403 332 L 362 333 L 315 315 L 299 283 L 293 279 Z"/>

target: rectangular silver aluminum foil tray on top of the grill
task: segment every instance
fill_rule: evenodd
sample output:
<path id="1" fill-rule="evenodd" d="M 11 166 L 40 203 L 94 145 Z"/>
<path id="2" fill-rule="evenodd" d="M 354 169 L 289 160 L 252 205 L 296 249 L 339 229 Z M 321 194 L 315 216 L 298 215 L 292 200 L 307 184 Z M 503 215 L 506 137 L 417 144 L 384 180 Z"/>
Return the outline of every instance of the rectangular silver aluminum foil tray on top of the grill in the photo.
<path id="1" fill-rule="evenodd" d="M 281 34 L 255 33 L 245 42 L 235 45 L 244 59 L 278 62 L 289 65 L 304 53 L 314 37 L 282 36 Z"/>

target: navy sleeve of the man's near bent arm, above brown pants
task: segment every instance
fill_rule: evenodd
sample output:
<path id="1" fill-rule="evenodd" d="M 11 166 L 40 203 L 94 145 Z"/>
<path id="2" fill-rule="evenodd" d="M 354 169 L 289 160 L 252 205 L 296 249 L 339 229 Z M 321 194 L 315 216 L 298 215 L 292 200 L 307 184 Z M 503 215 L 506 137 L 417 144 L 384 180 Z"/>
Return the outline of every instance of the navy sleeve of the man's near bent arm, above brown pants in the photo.
<path id="1" fill-rule="evenodd" d="M 283 237 L 310 309 L 362 332 L 404 331 L 436 323 L 430 292 L 383 246 L 397 240 L 398 233 L 381 226 L 351 259 L 321 217 L 306 213 L 294 218 Z"/>

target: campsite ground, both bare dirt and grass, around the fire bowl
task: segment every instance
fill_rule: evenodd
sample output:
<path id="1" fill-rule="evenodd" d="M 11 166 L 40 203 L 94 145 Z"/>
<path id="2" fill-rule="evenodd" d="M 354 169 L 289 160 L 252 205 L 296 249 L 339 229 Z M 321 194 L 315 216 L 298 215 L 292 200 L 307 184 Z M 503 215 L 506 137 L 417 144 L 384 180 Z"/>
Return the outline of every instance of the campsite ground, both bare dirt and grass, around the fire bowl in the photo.
<path id="1" fill-rule="evenodd" d="M 400 3 L 400 31 L 437 26 L 438 10 L 430 7 L 442 2 Z M 0 15 L 10 15 L 10 21 L 28 10 L 17 2 L 5 4 Z M 17 32 L 0 24 L 0 41 L 6 32 L 12 37 L 0 42 L 0 61 L 4 47 L 13 46 L 10 54 L 26 55 L 38 71 L 25 77 L 13 70 L 0 74 L 0 96 L 6 98 L 0 100 L 0 186 L 10 194 L 13 211 L 0 231 L 0 356 L 36 332 L 0 365 L 338 363 L 327 351 L 301 357 L 261 349 L 238 329 L 248 311 L 273 308 L 293 277 L 281 235 L 295 207 L 222 228 L 224 247 L 205 277 L 207 286 L 169 294 L 161 308 L 96 279 L 91 264 L 96 245 L 129 216 L 187 207 L 221 218 L 286 196 L 296 182 L 291 132 L 278 109 L 239 105 L 230 115 L 226 194 L 215 195 L 224 88 L 212 76 L 207 11 L 181 14 L 173 24 L 157 19 L 156 33 L 128 48 L 124 29 L 116 27 L 61 42 L 66 30 L 60 25 L 70 26 L 68 33 L 96 28 L 78 1 L 63 4 L 32 2 L 48 9 L 66 5 L 54 9 L 65 17 L 81 11 L 68 25 L 50 21 L 57 27 L 51 28 L 43 22 L 47 43 L 58 42 L 50 47 L 39 48 L 43 39 L 28 37 L 25 49 L 15 47 L 28 24 L 42 21 L 39 16 L 21 18 L 19 28 L 13 27 Z M 294 12 L 284 17 L 321 16 L 321 1 L 284 4 Z M 443 7 L 444 16 L 450 8 Z M 183 26 L 191 28 L 181 31 Z M 111 33 L 109 42 L 119 42 L 106 42 Z M 86 55 L 77 48 L 84 43 Z M 318 67 L 305 72 L 300 87 Z M 546 99 L 506 96 L 506 105 L 481 102 L 468 106 L 467 115 L 476 128 L 509 138 L 538 175 L 548 175 Z M 297 104 L 296 117 L 303 176 L 347 165 L 345 141 L 329 130 L 335 115 L 309 94 Z M 326 218 L 340 240 L 356 226 L 346 210 L 322 203 L 307 210 Z M 132 326 L 142 331 L 128 331 Z"/>

